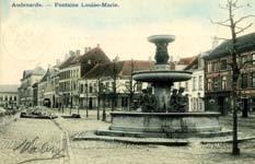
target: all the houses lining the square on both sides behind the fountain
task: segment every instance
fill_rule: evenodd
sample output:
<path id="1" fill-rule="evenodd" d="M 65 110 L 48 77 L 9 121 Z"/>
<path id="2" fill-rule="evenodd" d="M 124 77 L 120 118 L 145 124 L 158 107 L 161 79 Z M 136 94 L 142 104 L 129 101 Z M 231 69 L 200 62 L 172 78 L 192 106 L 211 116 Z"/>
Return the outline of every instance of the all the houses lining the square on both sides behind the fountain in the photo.
<path id="1" fill-rule="evenodd" d="M 255 60 L 255 33 L 237 38 L 239 62 Z M 189 110 L 218 110 L 222 115 L 230 112 L 231 62 L 230 40 L 195 57 L 170 61 L 171 69 L 189 70 L 193 78 L 175 83 L 183 86 L 189 96 Z M 246 62 L 245 62 L 246 63 Z M 49 67 L 46 71 L 35 68 L 24 71 L 19 87 L 21 104 L 25 106 L 96 108 L 102 94 L 106 106 L 128 108 L 130 94 L 139 94 L 146 83 L 132 81 L 132 71 L 153 69 L 149 60 L 111 61 L 97 46 L 70 51 L 65 61 Z M 245 65 L 239 83 L 240 103 L 245 110 L 255 107 L 255 61 Z M 113 96 L 116 96 L 113 98 Z M 113 102 L 113 99 L 115 99 Z"/>

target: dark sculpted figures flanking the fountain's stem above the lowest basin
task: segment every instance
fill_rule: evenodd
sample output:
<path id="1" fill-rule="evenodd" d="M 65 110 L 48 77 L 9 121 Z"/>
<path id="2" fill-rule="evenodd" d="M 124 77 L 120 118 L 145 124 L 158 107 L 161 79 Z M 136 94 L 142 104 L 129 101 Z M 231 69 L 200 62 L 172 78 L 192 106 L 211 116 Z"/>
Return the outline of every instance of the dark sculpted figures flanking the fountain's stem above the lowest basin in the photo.
<path id="1" fill-rule="evenodd" d="M 184 87 L 179 87 L 179 90 L 173 89 L 169 107 L 166 108 L 167 113 L 185 113 L 188 110 L 188 95 L 183 95 L 184 90 Z M 142 113 L 158 113 L 160 110 L 151 89 L 142 90 L 139 102 Z"/>

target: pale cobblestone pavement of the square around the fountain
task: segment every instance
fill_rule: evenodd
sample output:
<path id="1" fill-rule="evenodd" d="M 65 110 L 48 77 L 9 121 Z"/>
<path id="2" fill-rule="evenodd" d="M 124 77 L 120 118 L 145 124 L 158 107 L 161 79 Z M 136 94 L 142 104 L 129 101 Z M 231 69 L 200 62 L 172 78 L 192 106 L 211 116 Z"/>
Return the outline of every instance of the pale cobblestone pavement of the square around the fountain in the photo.
<path id="1" fill-rule="evenodd" d="M 255 141 L 240 143 L 241 155 L 232 156 L 231 144 L 198 144 L 188 147 L 136 145 L 104 141 L 72 141 L 80 131 L 107 127 L 96 120 L 95 113 L 89 118 L 81 112 L 81 119 L 57 118 L 18 119 L 0 127 L 0 163 L 73 163 L 73 164 L 239 164 L 255 163 Z M 62 114 L 61 114 L 62 115 Z M 231 118 L 221 117 L 231 128 Z M 240 119 L 240 130 L 254 134 L 255 117 Z M 33 142 L 33 140 L 35 140 Z M 22 144 L 26 141 L 26 145 Z M 27 148 L 27 142 L 37 149 Z M 46 147 L 47 145 L 47 147 Z M 46 149 L 48 148 L 48 149 Z M 40 150 L 40 151 L 36 151 Z M 44 151 L 42 151 L 44 150 Z M 65 156 L 63 156 L 65 155 Z"/>

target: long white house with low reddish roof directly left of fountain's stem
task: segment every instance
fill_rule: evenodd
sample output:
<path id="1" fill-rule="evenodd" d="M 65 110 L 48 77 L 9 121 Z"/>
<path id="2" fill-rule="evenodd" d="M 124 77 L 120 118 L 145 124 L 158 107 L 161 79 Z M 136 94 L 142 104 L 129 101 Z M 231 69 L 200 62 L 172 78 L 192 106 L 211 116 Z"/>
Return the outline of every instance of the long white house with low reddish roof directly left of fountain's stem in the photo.
<path id="1" fill-rule="evenodd" d="M 152 65 L 150 61 L 140 60 L 97 65 L 79 81 L 82 107 L 96 108 L 98 103 L 112 107 L 114 103 L 115 108 L 129 109 L 130 94 L 135 99 L 135 96 L 147 87 L 147 83 L 134 81 L 131 73 L 148 70 Z M 113 96 L 115 96 L 114 102 Z"/>

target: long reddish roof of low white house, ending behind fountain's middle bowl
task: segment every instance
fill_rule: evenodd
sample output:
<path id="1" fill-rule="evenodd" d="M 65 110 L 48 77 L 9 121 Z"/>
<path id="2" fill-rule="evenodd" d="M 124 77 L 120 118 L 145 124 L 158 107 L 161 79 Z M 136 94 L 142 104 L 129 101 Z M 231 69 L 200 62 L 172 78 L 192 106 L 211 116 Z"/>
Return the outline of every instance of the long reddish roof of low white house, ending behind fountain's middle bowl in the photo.
<path id="1" fill-rule="evenodd" d="M 117 77 L 131 75 L 134 71 L 147 70 L 153 63 L 151 61 L 142 60 L 125 60 L 118 62 L 100 63 L 91 69 L 83 78 L 97 79 L 103 77 L 112 77 L 116 72 Z"/>

